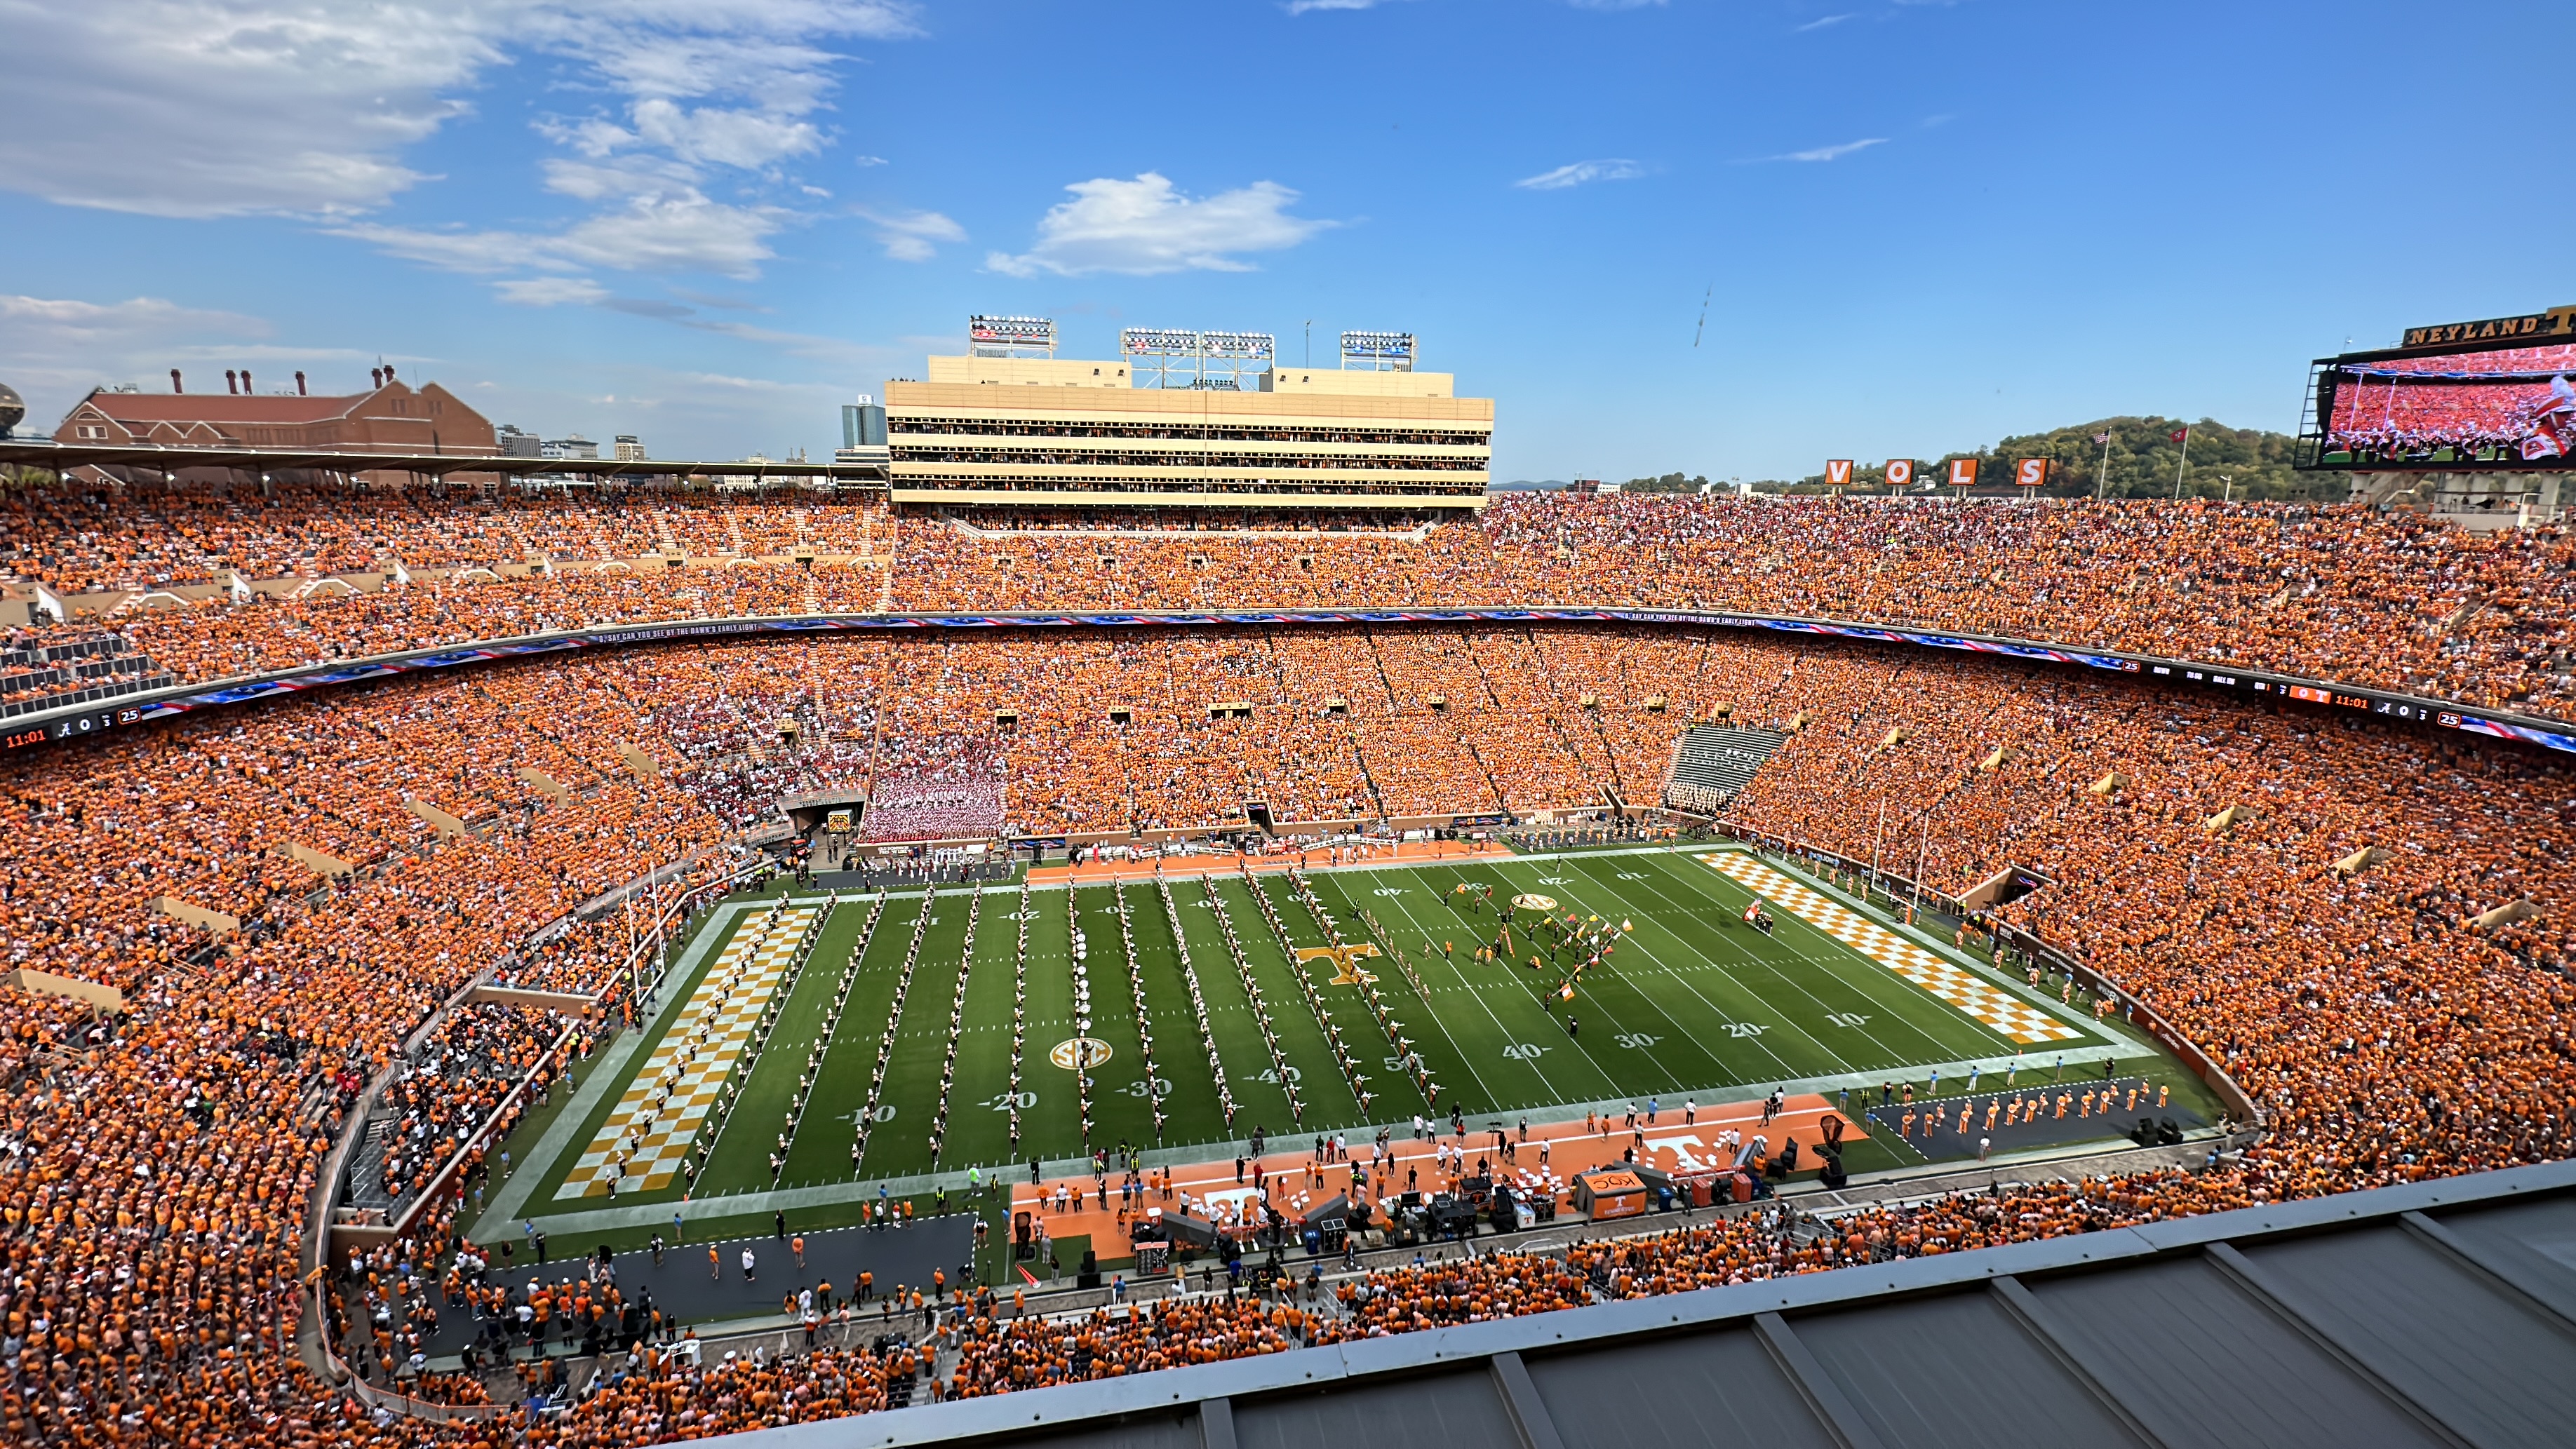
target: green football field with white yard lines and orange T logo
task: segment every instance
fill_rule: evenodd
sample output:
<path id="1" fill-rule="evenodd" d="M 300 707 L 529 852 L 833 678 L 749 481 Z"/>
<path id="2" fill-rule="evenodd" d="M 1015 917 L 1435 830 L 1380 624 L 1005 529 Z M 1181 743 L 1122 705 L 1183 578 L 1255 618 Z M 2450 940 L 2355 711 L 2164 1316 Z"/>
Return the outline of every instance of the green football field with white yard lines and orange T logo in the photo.
<path id="1" fill-rule="evenodd" d="M 2143 1037 L 2094 1024 L 2081 999 L 2061 1006 L 1986 970 L 1976 978 L 1978 988 L 2009 993 L 2014 1009 L 2040 1011 L 2071 1032 L 2045 1045 L 2014 1042 L 1780 903 L 1770 906 L 1777 932 L 1765 937 L 1741 924 L 1752 891 L 1716 870 L 1716 854 L 1613 849 L 1319 870 L 1306 875 L 1311 906 L 1285 872 L 1170 880 L 1170 903 L 1151 880 L 1074 891 L 1061 883 L 997 885 L 974 898 L 974 911 L 963 888 L 886 896 L 881 909 L 873 896 L 842 898 L 804 965 L 781 978 L 781 1011 L 768 1045 L 744 1053 L 734 1078 L 742 1084 L 739 1102 L 721 1127 L 706 1127 L 714 1150 L 696 1197 L 884 1179 L 902 1192 L 904 1179 L 920 1186 L 933 1171 L 1025 1166 L 1030 1158 L 1054 1163 L 1121 1143 L 1167 1148 L 1162 1161 L 1190 1161 L 1231 1156 L 1255 1127 L 1275 1140 L 1373 1125 L 1404 1132 L 1417 1112 L 1445 1120 L 1453 1107 L 1468 1120 L 1502 1112 L 1548 1120 L 1646 1096 L 1664 1104 L 1734 1102 L 1772 1086 L 1832 1091 L 1837 1081 L 1855 1089 L 1883 1078 L 1922 1081 L 1935 1068 L 1955 1078 L 1965 1063 L 2004 1063 L 2017 1053 L 2032 1063 L 2056 1053 L 2099 1058 L 2105 1048 L 2123 1058 L 2154 1055 Z M 1471 896 L 1455 891 L 1461 883 L 1476 888 L 1473 898 L 1492 885 L 1494 903 L 1533 896 L 1553 903 L 1548 911 L 1535 903 L 1515 911 L 1512 950 L 1522 963 L 1540 914 L 1561 919 L 1571 911 L 1633 929 L 1615 937 L 1605 965 L 1582 973 L 1571 1001 L 1558 1001 L 1564 965 L 1577 955 L 1561 955 L 1546 970 L 1473 960 L 1476 947 L 1494 939 L 1499 919 L 1492 906 L 1468 906 Z M 1852 896 L 1803 875 L 1798 883 L 1857 914 Z M 819 903 L 819 896 L 796 896 L 796 903 Z M 1373 945 L 1378 955 L 1329 955 L 1316 909 L 1345 942 Z M 866 929 L 871 911 L 873 932 Z M 1893 934 L 1886 914 L 1870 919 Z M 750 914 L 719 914 L 711 937 L 665 991 L 685 1001 L 719 947 L 747 929 L 744 921 Z M 1077 921 L 1090 986 L 1079 1019 L 1087 1027 L 1077 1024 Z M 1932 942 L 1911 937 L 1911 945 Z M 902 1017 L 894 1017 L 907 952 L 912 978 Z M 1947 947 L 1940 955 L 1942 970 L 1973 963 Z M 1376 975 L 1378 1009 L 1342 960 Z M 1231 1122 L 1185 973 L 1198 981 L 1206 1032 L 1234 1102 Z M 829 1004 L 845 978 L 848 999 L 824 1040 Z M 1025 1006 L 1015 1050 L 1012 1004 L 1020 991 Z M 1267 1035 L 1257 1027 L 1255 993 L 1270 1022 Z M 943 1081 L 951 1011 L 958 1017 L 958 1053 L 953 1078 Z M 1569 1014 L 1579 1022 L 1574 1035 Z M 675 1017 L 665 1009 L 647 1027 L 623 1060 L 623 1076 L 641 1068 Z M 886 1078 L 868 1109 L 889 1019 Z M 1151 1063 L 1141 1027 L 1151 1032 Z M 1329 1032 L 1340 1032 L 1347 1068 Z M 1437 1104 L 1427 1102 L 1414 1063 L 1394 1037 L 1419 1055 Z M 1097 1055 L 1103 1045 L 1105 1058 Z M 786 1109 L 809 1060 L 817 1060 L 809 1102 L 773 1179 L 770 1153 L 788 1127 Z M 1087 1094 L 1077 1068 L 1066 1066 L 1077 1060 L 1092 1063 Z M 603 1197 L 559 1197 L 556 1189 L 621 1086 L 605 1084 L 574 1127 L 574 1148 L 546 1166 L 531 1212 L 605 1204 Z M 1370 1096 L 1365 1107 L 1363 1091 Z M 1084 1096 L 1090 1135 L 1082 1130 Z M 1157 1102 L 1164 1114 L 1159 1127 Z M 866 1158 L 853 1171 L 850 1148 L 863 1109 L 871 1130 Z M 933 1158 L 933 1130 L 940 1125 Z M 677 1197 L 677 1181 L 647 1192 L 629 1184 L 616 1202 Z"/>

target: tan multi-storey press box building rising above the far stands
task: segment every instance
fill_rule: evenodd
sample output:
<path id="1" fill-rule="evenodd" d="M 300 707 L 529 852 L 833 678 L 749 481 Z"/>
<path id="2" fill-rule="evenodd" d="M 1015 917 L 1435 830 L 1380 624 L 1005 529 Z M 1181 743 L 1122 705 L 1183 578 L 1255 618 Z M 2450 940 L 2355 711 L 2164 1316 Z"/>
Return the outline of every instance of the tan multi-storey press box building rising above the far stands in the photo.
<path id="1" fill-rule="evenodd" d="M 1115 360 L 1054 355 L 1054 322 L 976 317 L 966 355 L 886 383 L 894 502 L 1409 515 L 1484 507 L 1494 401 L 1414 371 L 1401 332 L 1280 365 L 1260 332 L 1128 329 Z M 842 438 L 855 443 L 842 409 Z"/>

